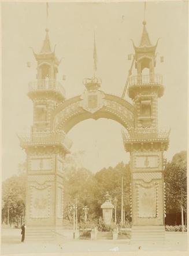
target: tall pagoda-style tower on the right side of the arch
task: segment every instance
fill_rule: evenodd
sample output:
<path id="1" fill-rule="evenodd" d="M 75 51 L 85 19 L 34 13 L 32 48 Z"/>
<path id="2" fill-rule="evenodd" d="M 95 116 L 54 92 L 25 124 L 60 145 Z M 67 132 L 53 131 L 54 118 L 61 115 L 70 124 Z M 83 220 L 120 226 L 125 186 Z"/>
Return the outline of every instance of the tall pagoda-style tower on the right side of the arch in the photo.
<path id="1" fill-rule="evenodd" d="M 164 156 L 168 133 L 158 131 L 158 98 L 164 94 L 162 75 L 155 74 L 155 50 L 143 21 L 140 45 L 135 46 L 136 75 L 129 77 L 128 96 L 135 107 L 135 127 L 124 135 L 131 155 L 132 240 L 164 238 Z M 147 74 L 143 74 L 146 69 Z M 146 72 L 145 72 L 146 73 Z"/>

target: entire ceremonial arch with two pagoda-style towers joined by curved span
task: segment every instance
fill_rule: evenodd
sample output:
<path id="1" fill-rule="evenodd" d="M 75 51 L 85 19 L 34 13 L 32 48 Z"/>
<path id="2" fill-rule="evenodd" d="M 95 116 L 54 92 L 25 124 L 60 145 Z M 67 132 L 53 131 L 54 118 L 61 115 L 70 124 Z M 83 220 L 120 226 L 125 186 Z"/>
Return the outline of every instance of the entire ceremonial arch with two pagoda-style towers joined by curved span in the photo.
<path id="1" fill-rule="evenodd" d="M 51 50 L 49 30 L 40 53 L 37 79 L 29 83 L 34 104 L 34 123 L 29 137 L 20 136 L 27 154 L 26 225 L 28 239 L 51 239 L 62 227 L 64 204 L 64 157 L 71 151 L 68 131 L 85 119 L 108 118 L 120 123 L 125 151 L 131 164 L 132 239 L 164 238 L 164 156 L 167 132 L 158 130 L 158 98 L 164 94 L 162 76 L 155 74 L 155 50 L 143 22 L 140 45 L 134 45 L 136 74 L 127 81 L 128 96 L 103 92 L 101 79 L 84 79 L 84 92 L 66 100 L 57 81 L 58 61 Z M 143 75 L 144 68 L 149 74 Z M 107 127 L 108 129 L 108 127 Z M 40 233 L 39 233 L 40 231 Z"/>

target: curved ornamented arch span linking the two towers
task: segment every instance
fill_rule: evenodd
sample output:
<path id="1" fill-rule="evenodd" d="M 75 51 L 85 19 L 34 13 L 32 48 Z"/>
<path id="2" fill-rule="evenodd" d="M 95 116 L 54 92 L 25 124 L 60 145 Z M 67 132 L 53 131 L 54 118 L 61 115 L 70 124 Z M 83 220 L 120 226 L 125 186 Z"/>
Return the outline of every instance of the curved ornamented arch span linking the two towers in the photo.
<path id="1" fill-rule="evenodd" d="M 90 97 L 97 98 L 93 108 L 88 107 Z M 58 105 L 52 114 L 51 129 L 64 130 L 67 133 L 77 123 L 89 118 L 112 119 L 123 125 L 129 133 L 134 130 L 134 106 L 123 98 L 99 90 L 85 92 Z"/>

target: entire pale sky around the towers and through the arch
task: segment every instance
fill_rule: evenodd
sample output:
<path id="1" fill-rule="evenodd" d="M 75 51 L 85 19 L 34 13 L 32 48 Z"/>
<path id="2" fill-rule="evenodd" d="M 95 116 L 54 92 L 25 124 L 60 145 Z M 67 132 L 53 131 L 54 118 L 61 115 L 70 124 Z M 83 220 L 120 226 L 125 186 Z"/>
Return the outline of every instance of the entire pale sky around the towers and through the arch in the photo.
<path id="1" fill-rule="evenodd" d="M 95 28 L 98 76 L 105 93 L 121 96 L 134 53 L 130 39 L 139 45 L 144 3 L 49 3 L 49 35 L 56 44 L 58 80 L 66 98 L 83 93 L 83 78 L 92 75 Z M 165 94 L 159 100 L 160 128 L 171 127 L 170 147 L 165 156 L 187 149 L 187 2 L 148 2 L 147 31 L 158 43 L 156 73 L 164 78 Z M 2 179 L 17 173 L 24 161 L 17 133 L 32 125 L 32 101 L 28 82 L 35 79 L 36 62 L 29 46 L 39 52 L 45 38 L 46 3 L 2 3 Z M 160 56 L 164 63 L 160 63 Z M 31 68 L 27 68 L 27 61 Z M 127 98 L 128 100 L 128 98 Z M 95 172 L 103 167 L 127 163 L 121 125 L 113 120 L 84 120 L 69 131 L 72 152 L 82 150 L 83 166 Z"/>

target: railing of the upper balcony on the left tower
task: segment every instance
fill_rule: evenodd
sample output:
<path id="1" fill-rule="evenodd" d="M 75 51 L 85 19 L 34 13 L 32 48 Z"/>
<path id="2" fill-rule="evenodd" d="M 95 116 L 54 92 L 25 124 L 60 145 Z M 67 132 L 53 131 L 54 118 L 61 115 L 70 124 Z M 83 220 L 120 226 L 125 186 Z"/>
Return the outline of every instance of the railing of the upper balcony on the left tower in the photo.
<path id="1" fill-rule="evenodd" d="M 29 92 L 55 90 L 65 97 L 64 87 L 55 79 L 36 79 L 29 82 Z"/>

